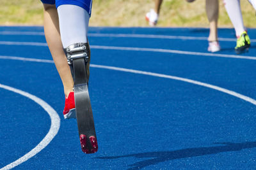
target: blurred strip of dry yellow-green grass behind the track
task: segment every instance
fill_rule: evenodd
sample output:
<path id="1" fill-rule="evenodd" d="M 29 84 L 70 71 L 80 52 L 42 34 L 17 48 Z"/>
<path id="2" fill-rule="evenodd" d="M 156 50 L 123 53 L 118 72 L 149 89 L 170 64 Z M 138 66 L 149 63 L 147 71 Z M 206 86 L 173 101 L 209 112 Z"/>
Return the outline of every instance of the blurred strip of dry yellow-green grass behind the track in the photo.
<path id="1" fill-rule="evenodd" d="M 153 0 L 93 0 L 90 26 L 145 27 L 145 14 L 154 7 Z M 244 25 L 255 27 L 255 10 L 247 0 L 241 0 Z M 1 0 L 0 25 L 42 25 L 40 0 Z M 185 0 L 165 0 L 158 27 L 208 27 L 205 0 L 187 3 Z M 232 27 L 220 0 L 220 27 Z"/>

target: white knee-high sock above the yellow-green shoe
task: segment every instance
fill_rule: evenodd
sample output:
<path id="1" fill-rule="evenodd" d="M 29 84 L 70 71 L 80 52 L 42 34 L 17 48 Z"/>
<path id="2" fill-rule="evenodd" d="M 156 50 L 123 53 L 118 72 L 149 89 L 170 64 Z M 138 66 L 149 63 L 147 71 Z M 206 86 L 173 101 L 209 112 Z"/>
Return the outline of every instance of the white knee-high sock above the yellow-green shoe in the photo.
<path id="1" fill-rule="evenodd" d="M 236 30 L 236 36 L 241 36 L 246 29 L 241 13 L 240 0 L 223 0 L 228 16 Z"/>

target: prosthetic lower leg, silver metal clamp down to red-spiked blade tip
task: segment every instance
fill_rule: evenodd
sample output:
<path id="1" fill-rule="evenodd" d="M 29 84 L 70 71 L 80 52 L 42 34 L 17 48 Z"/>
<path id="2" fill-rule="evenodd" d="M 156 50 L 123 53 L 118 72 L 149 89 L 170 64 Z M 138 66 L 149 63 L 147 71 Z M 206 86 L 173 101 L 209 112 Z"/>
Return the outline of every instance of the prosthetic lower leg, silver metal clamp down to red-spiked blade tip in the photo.
<path id="1" fill-rule="evenodd" d="M 98 150 L 92 106 L 88 93 L 90 47 L 88 43 L 76 43 L 65 48 L 68 64 L 74 79 L 77 127 L 84 153 Z"/>

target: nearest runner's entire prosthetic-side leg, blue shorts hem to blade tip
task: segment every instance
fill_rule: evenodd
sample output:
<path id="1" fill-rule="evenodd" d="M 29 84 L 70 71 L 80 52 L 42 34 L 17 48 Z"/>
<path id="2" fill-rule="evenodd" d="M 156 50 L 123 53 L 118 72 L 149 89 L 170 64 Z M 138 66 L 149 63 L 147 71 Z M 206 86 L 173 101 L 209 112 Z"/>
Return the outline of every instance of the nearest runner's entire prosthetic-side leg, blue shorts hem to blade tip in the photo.
<path id="1" fill-rule="evenodd" d="M 57 0 L 56 6 L 61 41 L 74 78 L 74 100 L 81 148 L 85 153 L 95 153 L 98 145 L 88 94 L 87 74 L 90 57 L 87 34 L 92 0 Z"/>

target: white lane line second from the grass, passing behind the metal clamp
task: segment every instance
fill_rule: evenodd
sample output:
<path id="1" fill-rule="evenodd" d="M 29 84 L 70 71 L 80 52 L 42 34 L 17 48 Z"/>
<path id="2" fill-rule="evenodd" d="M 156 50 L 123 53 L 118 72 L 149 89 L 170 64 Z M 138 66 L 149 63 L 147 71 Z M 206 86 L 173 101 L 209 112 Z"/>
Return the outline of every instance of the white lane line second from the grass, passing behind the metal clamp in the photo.
<path id="1" fill-rule="evenodd" d="M 0 45 L 47 46 L 47 43 L 0 41 Z M 246 55 L 228 55 L 228 54 L 221 54 L 221 53 L 188 52 L 188 51 L 181 51 L 181 50 L 167 50 L 167 49 L 161 49 L 161 48 L 138 48 L 138 47 L 100 46 L 100 45 L 90 45 L 90 48 L 103 49 L 103 50 L 128 50 L 128 51 L 140 51 L 140 52 L 179 53 L 179 54 L 184 54 L 184 55 L 199 55 L 199 56 L 207 56 L 207 57 L 224 57 L 224 58 L 233 58 L 233 59 L 256 60 L 256 57 L 246 56 Z"/>

